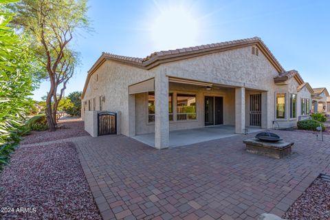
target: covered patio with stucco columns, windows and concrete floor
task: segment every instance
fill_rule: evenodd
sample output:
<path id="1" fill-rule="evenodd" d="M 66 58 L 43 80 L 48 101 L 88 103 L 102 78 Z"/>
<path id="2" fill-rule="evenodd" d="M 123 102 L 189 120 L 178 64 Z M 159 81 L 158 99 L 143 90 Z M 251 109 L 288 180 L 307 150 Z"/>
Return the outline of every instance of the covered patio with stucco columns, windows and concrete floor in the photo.
<path id="1" fill-rule="evenodd" d="M 267 95 L 244 85 L 157 76 L 129 87 L 129 136 L 167 148 L 260 131 L 267 128 Z"/>

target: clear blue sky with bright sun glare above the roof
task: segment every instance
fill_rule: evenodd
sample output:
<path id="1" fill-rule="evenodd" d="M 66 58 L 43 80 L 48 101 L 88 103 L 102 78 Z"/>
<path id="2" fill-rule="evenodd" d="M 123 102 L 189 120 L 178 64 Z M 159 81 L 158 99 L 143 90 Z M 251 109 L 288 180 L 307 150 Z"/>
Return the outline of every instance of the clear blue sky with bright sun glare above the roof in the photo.
<path id="1" fill-rule="evenodd" d="M 81 65 L 65 95 L 83 91 L 102 52 L 145 57 L 173 50 L 259 36 L 286 69 L 311 87 L 330 91 L 330 1 L 89 0 L 93 32 L 78 30 L 71 44 Z M 50 82 L 34 91 L 41 100 Z"/>

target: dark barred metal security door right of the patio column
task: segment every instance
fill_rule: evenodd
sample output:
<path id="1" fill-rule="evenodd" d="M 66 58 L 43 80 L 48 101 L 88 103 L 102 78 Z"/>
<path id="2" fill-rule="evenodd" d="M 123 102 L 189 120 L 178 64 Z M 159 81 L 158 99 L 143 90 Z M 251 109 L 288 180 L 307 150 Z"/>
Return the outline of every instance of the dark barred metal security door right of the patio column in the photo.
<path id="1" fill-rule="evenodd" d="M 261 94 L 250 95 L 250 126 L 261 126 Z"/>

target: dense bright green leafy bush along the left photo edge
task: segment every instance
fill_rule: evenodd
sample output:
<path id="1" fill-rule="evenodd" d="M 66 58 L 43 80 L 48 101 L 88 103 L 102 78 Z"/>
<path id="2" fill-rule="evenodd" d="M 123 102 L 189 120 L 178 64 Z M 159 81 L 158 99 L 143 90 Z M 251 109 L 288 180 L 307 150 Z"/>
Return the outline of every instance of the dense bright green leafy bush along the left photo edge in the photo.
<path id="1" fill-rule="evenodd" d="M 3 3 L 10 2 L 15 1 L 0 0 L 0 169 L 20 140 L 30 101 L 27 96 L 38 84 L 34 78 L 38 62 L 29 50 L 29 39 L 8 27 L 12 14 Z"/>

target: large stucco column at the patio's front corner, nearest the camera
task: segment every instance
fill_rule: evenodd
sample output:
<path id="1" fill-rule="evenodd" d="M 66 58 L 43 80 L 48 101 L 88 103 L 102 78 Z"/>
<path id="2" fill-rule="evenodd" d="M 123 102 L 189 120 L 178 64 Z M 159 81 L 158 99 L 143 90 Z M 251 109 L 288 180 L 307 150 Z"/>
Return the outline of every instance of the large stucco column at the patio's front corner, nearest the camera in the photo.
<path id="1" fill-rule="evenodd" d="M 155 148 L 168 148 L 168 77 L 164 71 L 155 74 Z"/>

